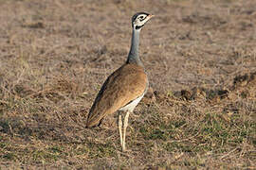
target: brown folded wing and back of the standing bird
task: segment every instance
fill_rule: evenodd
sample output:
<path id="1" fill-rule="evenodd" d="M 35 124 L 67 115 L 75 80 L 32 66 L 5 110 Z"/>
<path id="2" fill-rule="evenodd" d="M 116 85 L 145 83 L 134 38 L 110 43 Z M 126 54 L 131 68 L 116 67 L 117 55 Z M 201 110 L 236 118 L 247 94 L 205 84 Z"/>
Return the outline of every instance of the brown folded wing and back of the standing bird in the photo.
<path id="1" fill-rule="evenodd" d="M 105 115 L 114 113 L 142 95 L 147 81 L 142 67 L 136 64 L 121 66 L 102 85 L 89 112 L 86 127 L 99 125 Z"/>

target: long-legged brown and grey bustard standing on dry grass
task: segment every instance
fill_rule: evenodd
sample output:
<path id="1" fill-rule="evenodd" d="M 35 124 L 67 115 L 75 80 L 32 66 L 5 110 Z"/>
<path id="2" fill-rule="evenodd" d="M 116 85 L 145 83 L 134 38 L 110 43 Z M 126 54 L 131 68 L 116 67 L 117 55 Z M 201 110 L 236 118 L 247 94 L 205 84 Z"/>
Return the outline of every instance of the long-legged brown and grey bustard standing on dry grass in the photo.
<path id="1" fill-rule="evenodd" d="M 126 151 L 125 136 L 129 114 L 134 111 L 149 87 L 148 76 L 139 58 L 139 33 L 154 15 L 137 12 L 132 17 L 132 41 L 126 62 L 107 77 L 89 110 L 86 127 L 99 127 L 107 115 L 119 112 L 119 138 Z M 126 112 L 123 120 L 121 111 Z"/>

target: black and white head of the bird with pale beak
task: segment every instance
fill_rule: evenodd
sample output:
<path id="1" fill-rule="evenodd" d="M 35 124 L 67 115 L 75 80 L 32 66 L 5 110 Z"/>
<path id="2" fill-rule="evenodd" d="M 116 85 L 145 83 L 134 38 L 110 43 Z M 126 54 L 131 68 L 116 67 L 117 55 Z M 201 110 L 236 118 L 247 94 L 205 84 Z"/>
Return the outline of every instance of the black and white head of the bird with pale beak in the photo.
<path id="1" fill-rule="evenodd" d="M 140 30 L 153 16 L 146 12 L 137 12 L 132 18 L 133 28 Z"/>

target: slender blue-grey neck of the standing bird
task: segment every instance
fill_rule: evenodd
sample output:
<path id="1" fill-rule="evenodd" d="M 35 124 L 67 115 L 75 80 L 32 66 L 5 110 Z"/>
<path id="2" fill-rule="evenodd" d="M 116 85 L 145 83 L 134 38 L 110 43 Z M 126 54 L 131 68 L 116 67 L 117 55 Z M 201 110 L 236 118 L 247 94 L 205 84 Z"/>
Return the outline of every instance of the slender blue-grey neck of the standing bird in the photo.
<path id="1" fill-rule="evenodd" d="M 143 67 L 143 63 L 138 56 L 139 32 L 140 30 L 133 29 L 131 48 L 126 63 L 134 63 Z"/>

